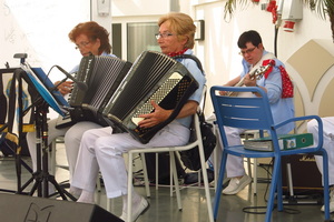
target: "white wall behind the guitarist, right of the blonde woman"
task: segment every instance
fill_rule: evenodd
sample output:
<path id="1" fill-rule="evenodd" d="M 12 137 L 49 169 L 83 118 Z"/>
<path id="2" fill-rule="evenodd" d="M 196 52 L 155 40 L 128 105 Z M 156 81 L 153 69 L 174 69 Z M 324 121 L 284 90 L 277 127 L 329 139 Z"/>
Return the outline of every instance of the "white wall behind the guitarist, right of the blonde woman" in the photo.
<path id="1" fill-rule="evenodd" d="M 187 2 L 191 4 L 190 9 Z M 259 4 L 248 3 L 247 7 L 237 4 L 233 18 L 226 21 L 224 19 L 225 2 L 222 0 L 185 0 L 181 4 L 183 12 L 191 14 L 194 19 L 205 20 L 205 41 L 196 44 L 196 54 L 204 62 L 208 87 L 223 84 L 239 74 L 242 58 L 238 56 L 237 39 L 242 32 L 250 29 L 257 30 L 262 34 L 266 50 L 274 51 L 272 14 L 261 10 Z M 261 1 L 261 3 L 266 2 Z M 285 32 L 282 28 L 278 31 L 277 56 L 283 62 L 286 62 L 312 39 L 322 39 L 327 42 L 326 46 L 331 47 L 325 49 L 334 56 L 328 19 L 322 20 L 306 7 L 303 8 L 303 19 L 295 24 L 294 32 Z M 308 56 L 305 54 L 305 57 Z M 293 69 L 287 71 L 293 78 L 302 75 L 302 73 L 295 73 Z M 207 104 L 206 113 L 210 113 L 213 109 L 209 97 Z"/>

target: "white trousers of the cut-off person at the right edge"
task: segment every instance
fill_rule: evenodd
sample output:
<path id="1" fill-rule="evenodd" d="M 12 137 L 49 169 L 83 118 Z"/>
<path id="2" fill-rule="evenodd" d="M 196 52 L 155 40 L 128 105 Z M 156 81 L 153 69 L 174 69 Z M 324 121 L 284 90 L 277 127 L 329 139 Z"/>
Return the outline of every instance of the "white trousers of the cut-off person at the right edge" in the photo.
<path id="1" fill-rule="evenodd" d="M 324 129 L 323 148 L 328 154 L 330 185 L 334 185 L 334 117 L 322 118 L 322 121 Z M 315 120 L 311 120 L 307 123 L 307 132 L 313 133 L 313 140 L 316 145 L 318 143 L 318 125 Z M 315 155 L 315 161 L 320 172 L 323 174 L 323 158 Z"/>

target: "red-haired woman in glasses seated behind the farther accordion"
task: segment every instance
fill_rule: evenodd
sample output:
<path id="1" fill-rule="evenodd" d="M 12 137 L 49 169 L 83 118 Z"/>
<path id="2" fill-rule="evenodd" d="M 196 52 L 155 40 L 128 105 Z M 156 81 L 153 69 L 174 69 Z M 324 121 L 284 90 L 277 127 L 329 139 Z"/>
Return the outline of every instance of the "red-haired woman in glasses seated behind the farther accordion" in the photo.
<path id="1" fill-rule="evenodd" d="M 111 46 L 109 43 L 108 31 L 94 21 L 84 22 L 77 24 L 69 33 L 69 39 L 76 44 L 76 49 L 80 51 L 82 57 L 87 57 L 90 53 L 95 56 L 110 56 Z M 75 73 L 79 70 L 79 65 L 76 65 L 70 73 Z M 56 82 L 57 85 L 59 82 Z M 68 94 L 72 89 L 72 81 L 66 81 L 58 87 L 61 94 Z M 48 121 L 48 142 L 49 144 L 58 137 L 65 135 L 65 147 L 69 164 L 70 180 L 75 171 L 77 155 L 79 152 L 79 144 L 81 137 L 86 130 L 101 128 L 101 125 L 95 122 L 78 122 L 72 127 L 56 128 L 58 119 Z M 37 157 L 36 157 L 36 132 L 27 133 L 27 142 L 29 152 L 32 160 L 33 171 L 37 170 Z"/>

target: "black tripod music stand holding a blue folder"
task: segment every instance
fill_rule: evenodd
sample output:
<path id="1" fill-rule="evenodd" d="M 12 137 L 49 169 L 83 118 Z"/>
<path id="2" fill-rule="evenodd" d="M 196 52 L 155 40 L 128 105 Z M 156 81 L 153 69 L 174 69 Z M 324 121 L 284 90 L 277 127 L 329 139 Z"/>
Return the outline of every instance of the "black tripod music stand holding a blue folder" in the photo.
<path id="1" fill-rule="evenodd" d="M 69 107 L 63 97 L 56 90 L 56 87 L 51 83 L 49 78 L 39 68 L 30 68 L 26 62 L 21 63 L 21 69 L 24 71 L 26 81 L 32 88 L 35 88 L 39 97 L 32 102 L 30 108 L 35 108 L 35 121 L 36 121 L 36 152 L 37 152 L 37 171 L 33 172 L 32 178 L 22 186 L 24 190 L 30 182 L 35 179 L 35 184 L 30 191 L 32 195 L 36 190 L 38 191 L 38 196 L 49 198 L 49 182 L 52 183 L 61 195 L 63 200 L 67 200 L 66 195 L 71 200 L 76 200 L 69 192 L 61 188 L 55 175 L 49 174 L 48 171 L 48 122 L 47 113 L 49 107 L 51 107 L 56 112 L 65 115 Z M 66 194 L 66 195 L 65 195 Z"/>

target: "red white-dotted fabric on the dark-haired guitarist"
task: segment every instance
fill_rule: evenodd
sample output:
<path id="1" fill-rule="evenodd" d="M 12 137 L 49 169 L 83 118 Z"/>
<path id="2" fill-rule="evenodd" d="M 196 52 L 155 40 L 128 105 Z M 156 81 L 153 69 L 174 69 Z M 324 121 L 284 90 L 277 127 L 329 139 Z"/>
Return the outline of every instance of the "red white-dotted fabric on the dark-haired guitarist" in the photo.
<path id="1" fill-rule="evenodd" d="M 263 61 L 263 65 L 272 64 L 272 67 L 265 72 L 264 77 L 265 79 L 268 78 L 269 73 L 273 71 L 274 65 L 275 65 L 275 60 L 268 59 Z M 282 77 L 282 98 L 293 98 L 294 97 L 294 85 L 284 69 L 283 65 L 278 67 L 281 71 L 281 77 Z"/>

